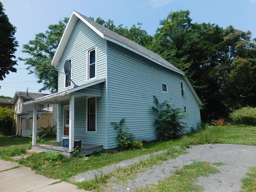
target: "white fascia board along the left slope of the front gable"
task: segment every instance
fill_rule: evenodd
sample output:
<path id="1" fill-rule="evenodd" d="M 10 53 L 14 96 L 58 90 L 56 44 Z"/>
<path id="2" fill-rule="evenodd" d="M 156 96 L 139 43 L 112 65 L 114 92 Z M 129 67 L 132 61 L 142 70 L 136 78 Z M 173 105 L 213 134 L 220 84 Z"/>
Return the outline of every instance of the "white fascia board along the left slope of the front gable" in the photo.
<path id="1" fill-rule="evenodd" d="M 77 21 L 77 16 L 74 15 L 74 11 L 72 12 L 69 20 L 68 20 L 68 24 L 66 25 L 66 28 L 62 34 L 62 37 L 60 39 L 60 42 L 58 44 L 57 50 L 52 58 L 52 62 L 51 65 L 54 67 L 57 67 L 60 61 L 60 58 L 66 48 L 66 45 L 68 43 L 68 40 L 72 34 L 72 31 L 74 29 L 74 26 L 76 25 L 76 21 Z"/>

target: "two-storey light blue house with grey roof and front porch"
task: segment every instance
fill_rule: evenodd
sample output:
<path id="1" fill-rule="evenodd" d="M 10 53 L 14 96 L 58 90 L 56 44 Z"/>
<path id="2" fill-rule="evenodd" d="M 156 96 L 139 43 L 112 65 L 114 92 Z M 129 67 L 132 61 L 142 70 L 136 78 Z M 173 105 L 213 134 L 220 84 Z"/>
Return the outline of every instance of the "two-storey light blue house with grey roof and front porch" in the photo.
<path id="1" fill-rule="evenodd" d="M 137 139 L 156 140 L 153 96 L 186 110 L 188 132 L 200 126 L 202 102 L 184 72 L 78 12 L 70 16 L 52 66 L 59 71 L 58 92 L 28 103 L 58 104 L 57 142 L 67 138 L 69 151 L 75 140 L 98 151 L 118 147 L 111 122 L 122 118 Z M 35 146 L 36 132 L 32 138 Z"/>

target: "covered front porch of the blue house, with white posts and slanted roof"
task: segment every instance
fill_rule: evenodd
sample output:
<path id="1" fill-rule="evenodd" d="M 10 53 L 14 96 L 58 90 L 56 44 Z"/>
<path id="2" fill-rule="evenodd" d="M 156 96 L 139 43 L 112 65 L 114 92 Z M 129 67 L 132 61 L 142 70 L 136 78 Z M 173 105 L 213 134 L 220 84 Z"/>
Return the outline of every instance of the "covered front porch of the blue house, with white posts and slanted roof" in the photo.
<path id="1" fill-rule="evenodd" d="M 94 82 L 90 82 L 88 84 L 82 86 L 76 86 L 74 88 L 70 88 L 68 90 L 64 90 L 62 92 L 57 92 L 54 94 L 50 94 L 44 96 L 42 98 L 36 98 L 34 100 L 30 100 L 26 102 L 26 104 L 34 104 L 34 111 L 33 111 L 33 129 L 32 129 L 32 149 L 37 150 L 44 150 L 44 151 L 55 151 L 65 154 L 66 156 L 72 156 L 72 152 L 74 151 L 74 141 L 76 138 L 75 136 L 75 99 L 84 98 L 84 97 L 101 97 L 102 96 L 102 83 L 105 82 L 105 79 L 95 80 Z M 68 134 L 64 134 L 64 126 L 62 125 L 62 118 L 58 114 L 58 129 L 63 129 L 63 132 L 58 132 L 57 130 L 57 139 L 56 142 L 50 144 L 36 144 L 36 128 L 37 128 L 37 104 L 44 103 L 44 104 L 58 104 L 58 106 L 62 107 L 68 104 L 69 111 L 68 111 Z M 84 114 L 84 118 L 85 118 Z M 64 124 L 64 123 L 63 123 Z M 76 137 L 80 137 L 80 132 L 76 132 Z M 87 135 L 85 130 L 82 133 L 83 135 Z M 68 138 L 68 144 L 65 148 L 62 146 L 61 138 L 65 137 Z M 82 139 L 82 151 L 86 155 L 92 154 L 94 151 L 102 151 L 103 145 L 97 144 L 96 142 L 91 142 L 90 137 L 86 140 Z"/>

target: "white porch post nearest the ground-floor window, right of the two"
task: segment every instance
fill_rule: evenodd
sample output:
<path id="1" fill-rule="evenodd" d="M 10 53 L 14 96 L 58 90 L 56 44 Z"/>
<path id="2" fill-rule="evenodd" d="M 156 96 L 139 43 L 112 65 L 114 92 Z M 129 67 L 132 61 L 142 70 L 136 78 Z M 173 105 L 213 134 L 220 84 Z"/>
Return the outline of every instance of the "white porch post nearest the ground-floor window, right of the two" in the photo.
<path id="1" fill-rule="evenodd" d="M 69 98 L 69 150 L 74 147 L 74 110 L 75 110 L 75 97 L 70 95 Z"/>

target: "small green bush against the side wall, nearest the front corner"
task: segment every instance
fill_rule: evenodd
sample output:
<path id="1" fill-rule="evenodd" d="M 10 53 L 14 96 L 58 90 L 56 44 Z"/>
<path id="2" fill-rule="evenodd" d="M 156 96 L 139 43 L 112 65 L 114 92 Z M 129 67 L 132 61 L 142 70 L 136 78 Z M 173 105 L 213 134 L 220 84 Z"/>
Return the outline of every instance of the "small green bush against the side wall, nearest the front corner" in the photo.
<path id="1" fill-rule="evenodd" d="M 115 130 L 118 132 L 117 140 L 119 144 L 120 150 L 128 150 L 128 149 L 139 149 L 142 147 L 142 141 L 135 138 L 135 136 L 130 133 L 129 128 L 126 127 L 124 131 L 124 126 L 126 123 L 126 119 L 122 118 L 119 123 L 112 122 L 111 124 L 115 125 Z"/>

